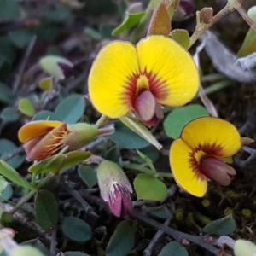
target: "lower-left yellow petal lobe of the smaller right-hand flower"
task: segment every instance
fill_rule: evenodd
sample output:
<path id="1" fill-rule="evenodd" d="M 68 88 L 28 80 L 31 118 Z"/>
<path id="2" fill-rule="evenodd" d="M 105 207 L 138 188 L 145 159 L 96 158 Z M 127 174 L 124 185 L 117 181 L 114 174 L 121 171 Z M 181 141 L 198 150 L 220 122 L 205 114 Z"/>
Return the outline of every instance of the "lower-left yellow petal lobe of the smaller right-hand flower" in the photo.
<path id="1" fill-rule="evenodd" d="M 192 149 L 181 138 L 175 140 L 170 149 L 170 166 L 177 184 L 191 195 L 207 193 L 207 177 L 191 165 Z"/>

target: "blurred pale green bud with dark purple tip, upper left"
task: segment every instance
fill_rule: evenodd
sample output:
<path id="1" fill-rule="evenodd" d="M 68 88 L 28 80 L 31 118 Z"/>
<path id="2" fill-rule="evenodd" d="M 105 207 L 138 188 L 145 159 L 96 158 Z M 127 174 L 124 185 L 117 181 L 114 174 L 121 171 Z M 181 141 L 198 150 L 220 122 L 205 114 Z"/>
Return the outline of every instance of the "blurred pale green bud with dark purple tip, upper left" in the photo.
<path id="1" fill-rule="evenodd" d="M 59 56 L 45 56 L 40 59 L 39 64 L 44 72 L 58 80 L 67 79 L 73 74 L 73 63 Z"/>

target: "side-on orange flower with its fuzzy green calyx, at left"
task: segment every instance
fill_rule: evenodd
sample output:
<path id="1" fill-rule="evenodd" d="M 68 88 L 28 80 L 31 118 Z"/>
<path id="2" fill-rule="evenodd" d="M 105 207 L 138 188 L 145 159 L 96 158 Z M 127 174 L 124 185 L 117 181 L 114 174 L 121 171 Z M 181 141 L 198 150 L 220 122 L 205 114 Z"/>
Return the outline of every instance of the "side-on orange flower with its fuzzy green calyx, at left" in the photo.
<path id="1" fill-rule="evenodd" d="M 102 132 L 104 130 L 98 130 L 95 125 L 85 123 L 67 125 L 60 121 L 38 120 L 23 125 L 18 137 L 24 143 L 27 160 L 45 160 L 65 147 L 67 152 L 77 150 Z"/>

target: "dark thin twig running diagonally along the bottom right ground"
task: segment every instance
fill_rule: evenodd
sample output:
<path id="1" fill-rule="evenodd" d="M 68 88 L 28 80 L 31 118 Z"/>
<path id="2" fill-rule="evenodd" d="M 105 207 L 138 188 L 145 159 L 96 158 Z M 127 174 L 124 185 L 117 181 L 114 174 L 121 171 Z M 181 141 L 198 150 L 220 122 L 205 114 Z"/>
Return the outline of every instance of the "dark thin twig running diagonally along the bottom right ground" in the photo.
<path id="1" fill-rule="evenodd" d="M 161 224 L 160 222 L 154 220 L 153 218 L 149 218 L 146 214 L 144 214 L 141 211 L 133 211 L 130 214 L 134 218 L 138 218 L 142 220 L 143 222 L 150 224 L 154 226 L 156 229 L 164 230 L 167 235 L 172 236 L 177 241 L 191 241 L 194 242 L 196 245 L 203 247 L 207 249 L 207 251 L 214 253 L 214 255 L 218 255 L 219 249 L 216 247 L 213 247 L 211 244 L 209 244 L 207 241 L 205 241 L 204 236 L 193 236 L 189 235 L 177 230 L 173 230 L 170 227 L 167 227 L 165 224 Z M 224 253 L 223 256 L 231 256 L 229 253 Z"/>

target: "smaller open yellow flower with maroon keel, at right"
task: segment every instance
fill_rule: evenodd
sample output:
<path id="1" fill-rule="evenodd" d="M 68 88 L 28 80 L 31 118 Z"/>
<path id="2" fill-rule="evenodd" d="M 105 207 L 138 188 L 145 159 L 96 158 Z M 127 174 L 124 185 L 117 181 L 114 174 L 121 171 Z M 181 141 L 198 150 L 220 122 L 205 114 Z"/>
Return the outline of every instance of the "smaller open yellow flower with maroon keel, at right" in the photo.
<path id="1" fill-rule="evenodd" d="M 195 196 L 207 192 L 207 179 L 228 186 L 236 171 L 224 163 L 241 148 L 241 137 L 234 125 L 202 117 L 183 128 L 171 145 L 170 165 L 178 185 Z"/>

